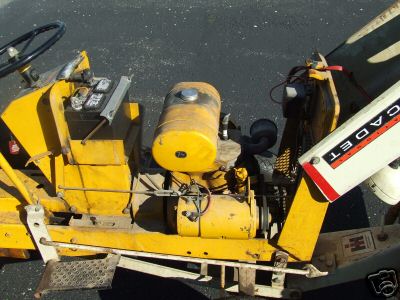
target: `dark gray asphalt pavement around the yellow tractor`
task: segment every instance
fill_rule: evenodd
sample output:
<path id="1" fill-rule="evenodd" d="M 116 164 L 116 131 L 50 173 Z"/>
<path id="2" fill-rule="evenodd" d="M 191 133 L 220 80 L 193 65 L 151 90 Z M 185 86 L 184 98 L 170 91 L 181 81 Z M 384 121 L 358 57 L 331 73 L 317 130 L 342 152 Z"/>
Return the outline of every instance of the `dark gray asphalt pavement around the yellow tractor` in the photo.
<path id="1" fill-rule="evenodd" d="M 45 71 L 84 49 L 95 74 L 114 79 L 133 75 L 131 95 L 146 107 L 144 143 L 149 145 L 163 98 L 180 81 L 213 84 L 222 95 L 223 111 L 232 113 L 245 131 L 263 117 L 282 130 L 280 108 L 267 100 L 269 89 L 312 51 L 328 53 L 392 2 L 0 0 L 0 44 L 35 26 L 64 21 L 67 33 L 34 62 L 36 68 Z M 1 103 L 18 87 L 16 75 L 1 79 Z M 376 226 L 384 210 L 364 188 L 356 188 L 331 205 L 323 230 Z M 41 271 L 39 260 L 5 264 L 0 299 L 32 299 Z M 45 299 L 211 297 L 202 292 L 206 296 L 175 281 L 120 270 L 112 291 L 58 293 Z M 324 298 L 330 295 L 327 290 Z"/>

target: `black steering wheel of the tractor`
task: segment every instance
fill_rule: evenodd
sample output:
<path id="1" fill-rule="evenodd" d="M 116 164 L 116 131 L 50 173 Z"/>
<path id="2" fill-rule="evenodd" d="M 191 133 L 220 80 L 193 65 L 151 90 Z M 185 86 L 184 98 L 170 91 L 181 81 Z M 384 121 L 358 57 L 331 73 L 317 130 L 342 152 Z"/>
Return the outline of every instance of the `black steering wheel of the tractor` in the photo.
<path id="1" fill-rule="evenodd" d="M 56 32 L 49 37 L 43 44 L 38 46 L 36 49 L 32 50 L 29 53 L 25 53 L 26 49 L 32 43 L 36 36 L 39 34 L 49 31 L 56 30 Z M 8 62 L 0 64 L 0 78 L 18 70 L 19 68 L 27 65 L 36 57 L 41 55 L 43 52 L 48 50 L 51 46 L 53 46 L 65 33 L 65 24 L 61 21 L 56 21 L 39 28 L 36 28 L 32 31 L 21 35 L 10 43 L 2 46 L 0 48 L 0 56 L 4 55 L 7 52 L 7 49 L 10 47 L 15 47 L 19 44 L 22 44 L 26 41 L 24 47 L 21 51 L 19 51 L 18 55 L 14 59 L 9 59 Z"/>

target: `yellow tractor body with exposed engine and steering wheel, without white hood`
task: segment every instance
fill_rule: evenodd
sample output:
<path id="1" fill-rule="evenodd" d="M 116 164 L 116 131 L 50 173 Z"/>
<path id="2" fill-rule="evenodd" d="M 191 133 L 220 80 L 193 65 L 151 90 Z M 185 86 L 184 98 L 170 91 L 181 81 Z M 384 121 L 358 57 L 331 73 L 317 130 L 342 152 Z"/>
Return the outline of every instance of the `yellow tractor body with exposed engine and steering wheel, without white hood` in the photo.
<path id="1" fill-rule="evenodd" d="M 95 76 L 85 51 L 35 71 L 31 61 L 65 31 L 57 21 L 0 48 L 9 56 L 0 77 L 17 71 L 26 85 L 1 112 L 11 138 L 10 153 L 0 154 L 0 255 L 40 252 L 46 269 L 36 297 L 110 287 L 122 267 L 228 292 L 298 298 L 307 290 L 303 281 L 397 243 L 380 245 L 381 229 L 368 229 L 361 236 L 375 240 L 373 249 L 349 258 L 335 252 L 338 243 L 366 230 L 320 235 L 329 201 L 299 157 L 341 116 L 335 70 L 323 55 L 314 53 L 284 82 L 286 125 L 277 155 L 269 151 L 276 125 L 260 119 L 244 135 L 205 82 L 171 88 L 146 149 L 144 108 L 131 101 L 128 76 Z M 29 51 L 45 32 L 49 38 Z M 26 157 L 25 167 L 11 163 L 17 154 Z M 201 272 L 168 261 L 198 264 Z M 208 266 L 217 266 L 219 276 L 211 277 Z M 256 283 L 256 271 L 272 276 Z"/>

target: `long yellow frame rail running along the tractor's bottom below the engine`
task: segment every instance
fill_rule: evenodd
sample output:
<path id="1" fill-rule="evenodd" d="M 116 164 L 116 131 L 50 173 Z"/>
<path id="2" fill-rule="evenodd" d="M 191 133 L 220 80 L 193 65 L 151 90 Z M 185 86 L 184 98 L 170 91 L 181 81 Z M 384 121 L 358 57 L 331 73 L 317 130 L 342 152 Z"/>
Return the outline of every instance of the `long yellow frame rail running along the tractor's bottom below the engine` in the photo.
<path id="1" fill-rule="evenodd" d="M 54 241 L 111 247 L 126 250 L 154 252 L 181 256 L 218 258 L 229 260 L 269 261 L 276 249 L 264 239 L 204 239 L 181 237 L 158 232 L 133 232 L 128 230 L 72 228 L 48 226 Z M 0 248 L 34 249 L 27 228 L 22 225 L 1 224 Z M 83 252 L 62 251 L 64 255 L 76 256 Z M 88 252 L 85 252 L 88 254 Z"/>

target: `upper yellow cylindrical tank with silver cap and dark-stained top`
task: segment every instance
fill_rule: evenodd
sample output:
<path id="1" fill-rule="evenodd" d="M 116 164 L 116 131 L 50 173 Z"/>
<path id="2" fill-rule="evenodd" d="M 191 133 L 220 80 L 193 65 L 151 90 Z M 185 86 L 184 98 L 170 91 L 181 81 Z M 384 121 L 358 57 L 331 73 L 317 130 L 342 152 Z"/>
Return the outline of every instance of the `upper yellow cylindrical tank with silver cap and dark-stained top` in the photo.
<path id="1" fill-rule="evenodd" d="M 204 82 L 176 84 L 164 101 L 152 152 L 163 168 L 204 172 L 214 167 L 221 97 Z"/>

